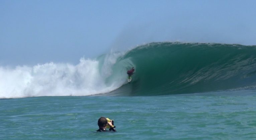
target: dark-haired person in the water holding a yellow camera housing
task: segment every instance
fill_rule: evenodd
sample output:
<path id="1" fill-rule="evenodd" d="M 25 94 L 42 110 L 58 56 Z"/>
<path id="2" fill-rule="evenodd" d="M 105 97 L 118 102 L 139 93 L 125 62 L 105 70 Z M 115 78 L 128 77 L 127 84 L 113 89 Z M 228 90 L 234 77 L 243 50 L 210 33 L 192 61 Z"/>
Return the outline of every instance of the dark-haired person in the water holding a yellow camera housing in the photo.
<path id="1" fill-rule="evenodd" d="M 109 128 L 109 131 L 116 131 L 116 127 L 114 126 L 114 120 L 110 120 L 109 118 L 100 117 L 98 120 L 98 126 L 98 132 L 108 131 L 106 130 L 106 128 Z"/>

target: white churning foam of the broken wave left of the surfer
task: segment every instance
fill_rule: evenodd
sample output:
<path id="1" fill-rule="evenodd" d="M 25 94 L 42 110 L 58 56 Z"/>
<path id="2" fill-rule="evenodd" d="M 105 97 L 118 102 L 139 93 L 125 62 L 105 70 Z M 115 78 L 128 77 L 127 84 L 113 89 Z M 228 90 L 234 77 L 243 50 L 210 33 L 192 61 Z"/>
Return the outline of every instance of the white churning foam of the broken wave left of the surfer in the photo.
<path id="1" fill-rule="evenodd" d="M 117 56 L 105 59 L 104 67 L 110 69 L 107 76 Z M 84 58 L 77 65 L 51 62 L 13 69 L 0 67 L 0 98 L 94 95 L 115 90 L 125 82 L 121 79 L 116 81 L 119 84 L 106 86 L 107 76 L 102 76 L 97 60 Z"/>

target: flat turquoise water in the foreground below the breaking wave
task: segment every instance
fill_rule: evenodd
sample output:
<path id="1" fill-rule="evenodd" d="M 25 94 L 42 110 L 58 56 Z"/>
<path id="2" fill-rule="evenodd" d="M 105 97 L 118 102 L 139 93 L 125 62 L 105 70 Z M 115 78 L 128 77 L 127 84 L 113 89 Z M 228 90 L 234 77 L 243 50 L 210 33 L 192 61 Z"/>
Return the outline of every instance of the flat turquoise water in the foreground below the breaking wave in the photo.
<path id="1" fill-rule="evenodd" d="M 0 99 L 0 139 L 256 139 L 255 92 Z"/>

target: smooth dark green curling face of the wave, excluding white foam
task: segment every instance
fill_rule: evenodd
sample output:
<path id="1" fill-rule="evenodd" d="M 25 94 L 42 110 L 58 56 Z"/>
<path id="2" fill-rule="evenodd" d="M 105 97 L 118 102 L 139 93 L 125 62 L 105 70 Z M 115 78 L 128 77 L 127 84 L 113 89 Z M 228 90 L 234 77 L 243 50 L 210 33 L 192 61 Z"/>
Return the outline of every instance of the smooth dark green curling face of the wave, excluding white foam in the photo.
<path id="1" fill-rule="evenodd" d="M 108 95 L 169 95 L 254 88 L 256 46 L 150 43 L 119 57 L 113 66 L 114 74 L 108 79 L 122 77 L 131 67 L 135 67 L 132 82 Z"/>

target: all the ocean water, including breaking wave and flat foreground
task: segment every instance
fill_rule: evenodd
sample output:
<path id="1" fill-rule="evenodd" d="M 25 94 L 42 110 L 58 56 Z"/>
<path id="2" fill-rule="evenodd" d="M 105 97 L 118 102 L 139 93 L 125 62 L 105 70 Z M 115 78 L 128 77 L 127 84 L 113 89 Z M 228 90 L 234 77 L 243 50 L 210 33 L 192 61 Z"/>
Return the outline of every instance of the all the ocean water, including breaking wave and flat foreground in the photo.
<path id="1" fill-rule="evenodd" d="M 135 68 L 132 82 L 126 71 Z M 256 139 L 256 46 L 157 42 L 0 67 L 0 139 Z M 100 117 L 117 132 L 96 132 Z"/>

